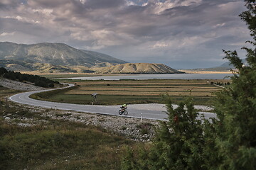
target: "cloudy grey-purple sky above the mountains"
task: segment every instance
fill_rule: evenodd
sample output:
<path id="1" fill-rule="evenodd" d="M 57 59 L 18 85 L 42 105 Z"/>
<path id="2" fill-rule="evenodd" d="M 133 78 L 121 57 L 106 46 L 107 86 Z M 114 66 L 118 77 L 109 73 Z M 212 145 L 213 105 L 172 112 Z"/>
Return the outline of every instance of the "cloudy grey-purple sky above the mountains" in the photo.
<path id="1" fill-rule="evenodd" d="M 250 40 L 242 0 L 1 0 L 0 41 L 63 42 L 127 62 L 214 67 Z"/>

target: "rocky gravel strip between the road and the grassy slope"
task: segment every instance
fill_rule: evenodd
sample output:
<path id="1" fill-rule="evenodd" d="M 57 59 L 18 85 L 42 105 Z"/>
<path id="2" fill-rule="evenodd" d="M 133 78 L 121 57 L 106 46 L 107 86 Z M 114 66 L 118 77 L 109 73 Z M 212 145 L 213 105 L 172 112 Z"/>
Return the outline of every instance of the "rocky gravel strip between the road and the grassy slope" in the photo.
<path id="1" fill-rule="evenodd" d="M 155 128 L 159 126 L 158 120 L 147 120 L 139 118 L 127 118 L 116 115 L 101 115 L 95 113 L 80 113 L 76 111 L 61 111 L 49 108 L 40 108 L 35 106 L 26 106 L 18 103 L 11 103 L 10 107 L 32 113 L 33 116 L 26 117 L 16 113 L 3 114 L 7 123 L 19 126 L 34 126 L 48 123 L 50 120 L 66 120 L 70 122 L 83 123 L 85 125 L 94 125 L 104 128 L 113 134 L 122 135 L 128 139 L 138 142 L 149 142 L 153 139 Z M 30 115 L 30 114 L 28 114 Z"/>

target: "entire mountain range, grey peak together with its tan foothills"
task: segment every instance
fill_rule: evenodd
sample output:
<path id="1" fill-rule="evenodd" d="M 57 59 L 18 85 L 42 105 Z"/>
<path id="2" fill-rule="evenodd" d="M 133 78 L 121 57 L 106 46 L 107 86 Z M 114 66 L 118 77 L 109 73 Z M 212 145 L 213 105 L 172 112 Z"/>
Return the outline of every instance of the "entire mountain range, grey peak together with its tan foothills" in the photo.
<path id="1" fill-rule="evenodd" d="M 180 73 L 164 64 L 136 63 L 63 43 L 0 42 L 0 67 L 18 72 Z"/>

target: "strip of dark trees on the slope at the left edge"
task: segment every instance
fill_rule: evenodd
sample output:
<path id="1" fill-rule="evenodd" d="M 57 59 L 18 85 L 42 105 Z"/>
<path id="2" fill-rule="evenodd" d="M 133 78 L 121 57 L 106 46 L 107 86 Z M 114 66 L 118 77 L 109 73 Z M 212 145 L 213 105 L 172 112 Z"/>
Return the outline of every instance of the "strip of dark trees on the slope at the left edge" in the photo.
<path id="1" fill-rule="evenodd" d="M 41 87 L 54 87 L 54 84 L 60 84 L 58 81 L 47 79 L 46 77 L 40 77 L 33 74 L 21 74 L 20 72 L 9 71 L 4 67 L 0 67 L 0 77 L 16 81 L 28 81 L 35 86 Z"/>

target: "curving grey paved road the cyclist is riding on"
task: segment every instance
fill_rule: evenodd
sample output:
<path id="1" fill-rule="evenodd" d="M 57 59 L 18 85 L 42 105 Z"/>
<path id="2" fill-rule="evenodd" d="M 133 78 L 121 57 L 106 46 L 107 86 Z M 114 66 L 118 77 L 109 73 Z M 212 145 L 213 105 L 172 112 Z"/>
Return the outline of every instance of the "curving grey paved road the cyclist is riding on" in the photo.
<path id="1" fill-rule="evenodd" d="M 73 86 L 70 84 L 69 86 Z M 49 91 L 49 90 L 43 90 Z M 16 94 L 9 99 L 16 103 L 23 103 L 31 106 L 40 106 L 43 108 L 53 108 L 66 111 L 79 111 L 84 113 L 100 113 L 104 115 L 119 115 L 119 106 L 98 106 L 98 105 L 78 105 L 70 103 L 56 103 L 50 101 L 39 101 L 29 98 L 31 94 L 36 94 L 42 91 L 29 91 L 22 94 Z M 146 118 L 153 120 L 165 120 L 167 118 L 166 108 L 163 104 L 136 104 L 127 107 L 129 114 L 127 117 Z M 215 117 L 214 113 L 200 112 L 205 118 Z M 124 115 L 121 115 L 124 116 Z"/>

